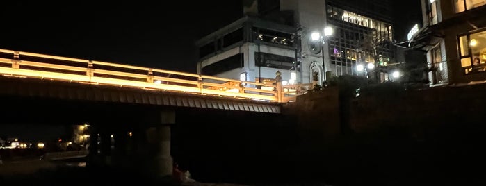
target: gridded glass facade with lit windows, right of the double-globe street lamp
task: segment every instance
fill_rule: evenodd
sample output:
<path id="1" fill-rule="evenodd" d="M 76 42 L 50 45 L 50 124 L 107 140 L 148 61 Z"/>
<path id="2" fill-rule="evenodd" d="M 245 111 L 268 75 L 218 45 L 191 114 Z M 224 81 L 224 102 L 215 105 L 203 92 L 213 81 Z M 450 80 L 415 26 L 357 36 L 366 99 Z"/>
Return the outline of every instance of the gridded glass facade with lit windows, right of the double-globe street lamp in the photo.
<path id="1" fill-rule="evenodd" d="M 330 70 L 337 76 L 359 75 L 358 64 L 386 66 L 389 63 L 393 40 L 391 24 L 332 5 L 327 6 L 327 17 L 334 26 L 334 35 L 327 42 Z"/>

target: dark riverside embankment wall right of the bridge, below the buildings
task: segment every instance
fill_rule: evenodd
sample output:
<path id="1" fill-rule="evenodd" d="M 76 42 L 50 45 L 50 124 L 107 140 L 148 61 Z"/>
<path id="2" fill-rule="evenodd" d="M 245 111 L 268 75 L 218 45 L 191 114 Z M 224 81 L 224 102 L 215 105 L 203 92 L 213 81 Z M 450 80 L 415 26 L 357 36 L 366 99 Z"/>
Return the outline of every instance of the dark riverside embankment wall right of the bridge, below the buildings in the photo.
<path id="1" fill-rule="evenodd" d="M 286 107 L 298 116 L 300 170 L 332 185 L 484 183 L 467 168 L 483 167 L 484 92 L 486 85 L 433 87 L 341 105 L 337 90 L 309 92 Z"/>

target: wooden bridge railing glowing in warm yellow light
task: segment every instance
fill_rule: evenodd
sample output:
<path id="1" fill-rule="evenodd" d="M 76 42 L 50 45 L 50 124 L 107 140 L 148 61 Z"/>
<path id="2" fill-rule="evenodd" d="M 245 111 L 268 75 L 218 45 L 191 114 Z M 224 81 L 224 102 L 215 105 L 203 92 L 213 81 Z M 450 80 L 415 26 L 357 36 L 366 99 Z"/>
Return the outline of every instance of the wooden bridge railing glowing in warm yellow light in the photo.
<path id="1" fill-rule="evenodd" d="M 277 85 L 6 49 L 0 49 L 0 74 L 271 102 L 297 95 Z"/>

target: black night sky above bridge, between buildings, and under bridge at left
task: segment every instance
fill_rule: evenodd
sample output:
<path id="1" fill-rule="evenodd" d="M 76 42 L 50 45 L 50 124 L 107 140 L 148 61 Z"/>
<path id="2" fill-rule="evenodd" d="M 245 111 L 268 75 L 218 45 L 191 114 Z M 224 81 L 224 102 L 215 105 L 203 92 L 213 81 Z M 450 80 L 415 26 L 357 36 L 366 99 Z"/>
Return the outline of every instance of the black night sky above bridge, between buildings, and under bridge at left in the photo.
<path id="1" fill-rule="evenodd" d="M 240 0 L 59 2 L 2 2 L 0 49 L 195 72 L 195 40 L 243 15 Z M 419 0 L 394 4 L 400 7 L 394 11 L 400 41 L 416 22 L 421 23 L 420 6 Z M 47 132 L 39 133 L 41 129 Z M 34 133 L 54 137 L 62 131 L 0 126 L 0 137 Z"/>

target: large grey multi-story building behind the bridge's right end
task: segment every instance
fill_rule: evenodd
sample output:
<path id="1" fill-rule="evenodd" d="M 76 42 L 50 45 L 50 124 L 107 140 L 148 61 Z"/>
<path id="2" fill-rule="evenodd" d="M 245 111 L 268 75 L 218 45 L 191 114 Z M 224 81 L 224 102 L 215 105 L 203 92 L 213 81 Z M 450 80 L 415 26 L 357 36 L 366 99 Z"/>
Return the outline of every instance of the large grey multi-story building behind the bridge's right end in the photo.
<path id="1" fill-rule="evenodd" d="M 387 0 L 244 1 L 245 17 L 197 41 L 197 72 L 262 83 L 273 83 L 277 71 L 288 83 L 369 75 L 394 58 L 390 7 Z M 384 80 L 386 71 L 376 75 Z"/>

